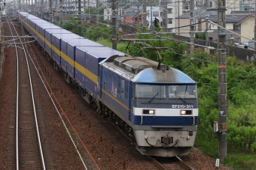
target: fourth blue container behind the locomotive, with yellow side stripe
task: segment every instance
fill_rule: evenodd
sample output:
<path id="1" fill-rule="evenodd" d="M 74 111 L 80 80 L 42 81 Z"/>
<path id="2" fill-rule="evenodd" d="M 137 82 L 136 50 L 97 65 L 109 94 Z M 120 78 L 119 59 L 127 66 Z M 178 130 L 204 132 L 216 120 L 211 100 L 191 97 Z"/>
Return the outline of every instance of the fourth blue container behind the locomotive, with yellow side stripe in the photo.
<path id="1" fill-rule="evenodd" d="M 66 29 L 59 28 L 59 29 L 45 29 L 44 30 L 44 47 L 47 53 L 52 56 L 52 41 L 51 41 L 51 34 L 74 34 L 71 31 L 67 31 Z"/>

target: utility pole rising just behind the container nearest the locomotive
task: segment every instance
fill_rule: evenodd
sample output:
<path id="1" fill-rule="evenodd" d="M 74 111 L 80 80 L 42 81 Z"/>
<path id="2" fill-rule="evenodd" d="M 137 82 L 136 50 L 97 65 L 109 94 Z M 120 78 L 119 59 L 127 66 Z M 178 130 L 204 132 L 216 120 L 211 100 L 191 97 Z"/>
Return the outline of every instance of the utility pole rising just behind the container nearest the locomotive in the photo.
<path id="1" fill-rule="evenodd" d="M 112 0 L 112 49 L 117 49 L 117 1 Z"/>

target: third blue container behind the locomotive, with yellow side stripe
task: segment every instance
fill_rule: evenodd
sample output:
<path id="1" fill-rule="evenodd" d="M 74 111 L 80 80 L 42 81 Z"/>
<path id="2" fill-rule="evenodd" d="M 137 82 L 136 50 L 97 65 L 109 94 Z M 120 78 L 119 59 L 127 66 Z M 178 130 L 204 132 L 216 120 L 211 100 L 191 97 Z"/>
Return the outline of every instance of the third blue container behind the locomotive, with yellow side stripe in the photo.
<path id="1" fill-rule="evenodd" d="M 77 34 L 51 34 L 52 50 L 51 55 L 56 63 L 61 67 L 61 39 L 72 39 L 72 38 L 81 38 Z"/>

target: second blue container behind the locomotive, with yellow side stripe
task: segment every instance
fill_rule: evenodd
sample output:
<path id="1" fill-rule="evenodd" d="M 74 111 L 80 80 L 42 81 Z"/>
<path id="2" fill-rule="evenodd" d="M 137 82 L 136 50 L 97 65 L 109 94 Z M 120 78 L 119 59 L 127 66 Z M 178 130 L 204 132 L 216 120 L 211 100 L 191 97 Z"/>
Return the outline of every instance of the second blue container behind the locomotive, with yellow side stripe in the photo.
<path id="1" fill-rule="evenodd" d="M 103 46 L 99 43 L 95 43 L 91 40 L 85 39 L 62 39 L 62 54 L 61 64 L 62 68 L 65 68 L 72 79 L 75 79 L 75 47 L 76 46 Z"/>

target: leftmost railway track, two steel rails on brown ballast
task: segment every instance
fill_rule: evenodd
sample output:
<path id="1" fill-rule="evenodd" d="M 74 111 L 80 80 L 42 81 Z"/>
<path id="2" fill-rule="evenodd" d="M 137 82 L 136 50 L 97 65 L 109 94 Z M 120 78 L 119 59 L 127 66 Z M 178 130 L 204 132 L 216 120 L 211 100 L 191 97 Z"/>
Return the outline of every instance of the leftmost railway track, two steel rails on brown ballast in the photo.
<path id="1" fill-rule="evenodd" d="M 5 19 L 11 36 L 20 36 L 13 24 L 14 18 L 6 16 Z M 20 38 L 10 42 L 9 46 L 15 49 L 17 57 L 17 107 L 16 121 L 12 122 L 9 133 L 11 144 L 8 147 L 8 169 L 46 169 L 26 46 Z"/>

